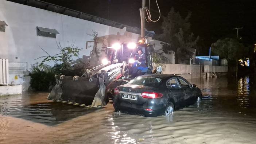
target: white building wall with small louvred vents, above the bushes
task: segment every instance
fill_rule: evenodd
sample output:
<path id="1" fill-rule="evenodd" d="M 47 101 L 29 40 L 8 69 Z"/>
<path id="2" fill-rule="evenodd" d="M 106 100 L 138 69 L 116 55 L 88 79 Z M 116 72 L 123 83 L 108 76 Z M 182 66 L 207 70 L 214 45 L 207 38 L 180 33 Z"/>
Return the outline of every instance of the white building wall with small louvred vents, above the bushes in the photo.
<path id="1" fill-rule="evenodd" d="M 91 51 L 85 49 L 85 42 L 92 39 L 88 35 L 92 30 L 99 36 L 124 35 L 126 31 L 126 28 L 110 27 L 5 0 L 0 0 L 0 20 L 8 24 L 5 32 L 0 32 L 0 58 L 28 62 L 28 67 L 36 62 L 35 58 L 45 55 L 39 46 L 54 55 L 58 52 L 56 42 L 62 46 L 67 46 L 67 41 L 75 42 L 75 47 L 84 48 L 80 52 L 82 57 Z M 56 39 L 36 36 L 36 26 L 56 29 L 60 34 Z M 131 36 L 135 40 L 139 37 L 137 34 Z"/>

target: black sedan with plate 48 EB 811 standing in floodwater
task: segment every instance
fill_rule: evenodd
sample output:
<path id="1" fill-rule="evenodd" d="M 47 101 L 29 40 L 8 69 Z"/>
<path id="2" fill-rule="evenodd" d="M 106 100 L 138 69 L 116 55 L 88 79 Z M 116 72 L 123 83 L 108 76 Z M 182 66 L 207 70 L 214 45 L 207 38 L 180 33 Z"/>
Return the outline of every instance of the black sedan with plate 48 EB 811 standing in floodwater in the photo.
<path id="1" fill-rule="evenodd" d="M 169 115 L 200 102 L 201 90 L 185 78 L 169 74 L 142 75 L 115 89 L 115 110 L 144 116 Z"/>

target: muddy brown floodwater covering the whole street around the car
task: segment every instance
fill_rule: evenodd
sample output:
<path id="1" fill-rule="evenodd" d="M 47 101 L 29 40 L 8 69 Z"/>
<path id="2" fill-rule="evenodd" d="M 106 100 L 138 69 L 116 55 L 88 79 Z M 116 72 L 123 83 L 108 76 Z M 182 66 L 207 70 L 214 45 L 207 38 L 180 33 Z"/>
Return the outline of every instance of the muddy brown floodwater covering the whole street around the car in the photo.
<path id="1" fill-rule="evenodd" d="M 192 79 L 201 104 L 142 117 L 47 100 L 48 93 L 0 97 L 0 144 L 255 143 L 256 79 Z"/>

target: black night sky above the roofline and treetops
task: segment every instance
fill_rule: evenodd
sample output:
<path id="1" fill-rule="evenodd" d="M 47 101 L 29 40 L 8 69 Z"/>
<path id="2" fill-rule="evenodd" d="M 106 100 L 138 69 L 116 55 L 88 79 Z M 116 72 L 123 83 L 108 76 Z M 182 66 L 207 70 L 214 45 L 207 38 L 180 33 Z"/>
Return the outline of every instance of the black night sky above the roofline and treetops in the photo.
<path id="1" fill-rule="evenodd" d="M 140 27 L 141 0 L 43 0 L 91 15 L 113 20 L 129 26 Z M 148 6 L 148 0 L 147 6 Z M 210 46 L 218 39 L 236 37 L 236 27 L 244 43 L 256 43 L 256 0 L 158 0 L 161 16 L 166 16 L 171 7 L 186 17 L 189 11 L 193 33 L 200 36 L 200 43 Z M 151 0 L 152 19 L 158 18 L 155 0 Z M 147 23 L 149 31 L 161 34 L 162 18 L 156 23 Z"/>

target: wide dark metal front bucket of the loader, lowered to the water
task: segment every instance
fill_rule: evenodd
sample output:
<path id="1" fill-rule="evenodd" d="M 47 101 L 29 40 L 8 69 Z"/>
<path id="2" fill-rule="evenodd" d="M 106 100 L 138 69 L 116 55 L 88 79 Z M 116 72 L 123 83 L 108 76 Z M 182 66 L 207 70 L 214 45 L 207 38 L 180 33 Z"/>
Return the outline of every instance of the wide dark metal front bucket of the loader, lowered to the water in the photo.
<path id="1" fill-rule="evenodd" d="M 76 105 L 103 106 L 108 103 L 105 97 L 105 85 L 103 79 L 65 76 L 57 80 L 57 84 L 48 96 L 48 99 L 54 101 L 69 102 Z M 102 82 L 103 81 L 103 82 Z M 103 85 L 102 85 L 103 84 Z M 99 87 L 100 86 L 100 87 Z M 104 94 L 101 91 L 104 90 Z"/>

